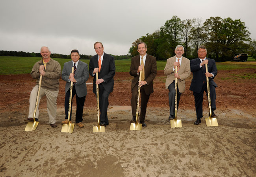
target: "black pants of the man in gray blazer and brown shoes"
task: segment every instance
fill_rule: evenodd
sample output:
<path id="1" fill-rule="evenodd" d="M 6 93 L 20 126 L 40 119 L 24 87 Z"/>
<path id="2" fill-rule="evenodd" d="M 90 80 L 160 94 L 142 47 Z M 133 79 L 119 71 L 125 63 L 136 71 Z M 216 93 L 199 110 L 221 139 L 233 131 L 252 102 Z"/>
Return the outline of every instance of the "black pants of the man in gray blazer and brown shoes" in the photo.
<path id="1" fill-rule="evenodd" d="M 76 95 L 76 124 L 78 124 L 79 122 L 82 122 L 82 120 L 83 120 L 83 118 L 82 118 L 83 105 L 84 105 L 86 96 L 83 96 L 81 98 L 78 97 L 76 94 L 75 85 L 76 84 L 73 85 L 72 100 L 73 100 L 74 95 Z M 66 114 L 65 119 L 67 119 L 69 116 L 69 96 L 70 96 L 70 89 L 67 91 L 67 93 L 65 95 L 65 114 Z M 71 120 L 71 115 L 72 115 L 72 104 L 73 104 L 73 101 L 71 101 L 71 111 L 70 111 L 70 119 L 69 120 Z"/>

